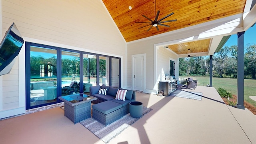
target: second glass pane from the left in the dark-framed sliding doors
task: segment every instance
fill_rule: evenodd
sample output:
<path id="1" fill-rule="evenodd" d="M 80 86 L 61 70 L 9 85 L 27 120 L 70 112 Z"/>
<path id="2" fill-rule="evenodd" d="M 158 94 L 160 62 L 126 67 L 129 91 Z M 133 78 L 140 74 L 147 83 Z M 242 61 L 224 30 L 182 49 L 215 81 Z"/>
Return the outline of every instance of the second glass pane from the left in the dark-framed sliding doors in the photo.
<path id="1" fill-rule="evenodd" d="M 80 53 L 61 51 L 61 95 L 80 92 Z"/>

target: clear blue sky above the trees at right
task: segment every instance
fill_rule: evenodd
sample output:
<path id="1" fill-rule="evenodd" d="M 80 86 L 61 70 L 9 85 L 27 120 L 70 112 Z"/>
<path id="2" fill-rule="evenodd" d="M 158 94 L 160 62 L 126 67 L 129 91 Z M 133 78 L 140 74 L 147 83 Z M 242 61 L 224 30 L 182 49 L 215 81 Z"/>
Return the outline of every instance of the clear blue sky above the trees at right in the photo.
<path id="1" fill-rule="evenodd" d="M 248 30 L 245 31 L 245 33 L 244 33 L 244 48 L 246 48 L 248 44 L 250 44 L 250 45 L 256 44 L 255 33 L 256 33 L 256 24 L 252 28 L 249 28 Z M 224 44 L 223 47 L 233 46 L 233 45 L 237 45 L 237 34 L 233 34 L 232 36 L 230 36 L 230 38 L 228 39 L 226 44 Z"/>

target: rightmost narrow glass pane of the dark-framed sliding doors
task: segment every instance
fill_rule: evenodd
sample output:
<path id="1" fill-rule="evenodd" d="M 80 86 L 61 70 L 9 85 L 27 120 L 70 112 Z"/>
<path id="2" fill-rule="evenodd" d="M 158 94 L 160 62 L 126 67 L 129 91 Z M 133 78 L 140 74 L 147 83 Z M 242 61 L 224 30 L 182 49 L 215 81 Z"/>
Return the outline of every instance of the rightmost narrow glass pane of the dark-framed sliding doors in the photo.
<path id="1" fill-rule="evenodd" d="M 118 58 L 111 58 L 111 86 L 119 88 L 120 66 Z"/>

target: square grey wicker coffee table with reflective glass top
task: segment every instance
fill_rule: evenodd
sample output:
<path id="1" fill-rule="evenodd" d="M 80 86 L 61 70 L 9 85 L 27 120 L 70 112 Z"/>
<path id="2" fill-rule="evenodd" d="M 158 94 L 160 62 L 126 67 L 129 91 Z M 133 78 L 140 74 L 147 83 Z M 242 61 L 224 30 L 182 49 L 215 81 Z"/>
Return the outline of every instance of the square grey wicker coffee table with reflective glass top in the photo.
<path id="1" fill-rule="evenodd" d="M 93 96 L 83 93 L 59 96 L 64 102 L 64 115 L 74 124 L 91 117 L 91 101 L 97 100 Z"/>

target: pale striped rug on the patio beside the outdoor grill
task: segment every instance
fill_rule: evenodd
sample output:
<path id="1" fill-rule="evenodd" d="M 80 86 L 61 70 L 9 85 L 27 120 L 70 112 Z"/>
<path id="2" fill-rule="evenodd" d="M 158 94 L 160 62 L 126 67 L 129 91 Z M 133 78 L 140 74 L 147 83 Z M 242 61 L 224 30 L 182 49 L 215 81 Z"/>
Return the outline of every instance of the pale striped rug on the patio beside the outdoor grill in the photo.
<path id="1" fill-rule="evenodd" d="M 184 90 L 176 90 L 170 96 L 177 96 L 181 98 L 189 98 L 194 100 L 202 100 L 202 92 L 188 92 Z"/>

